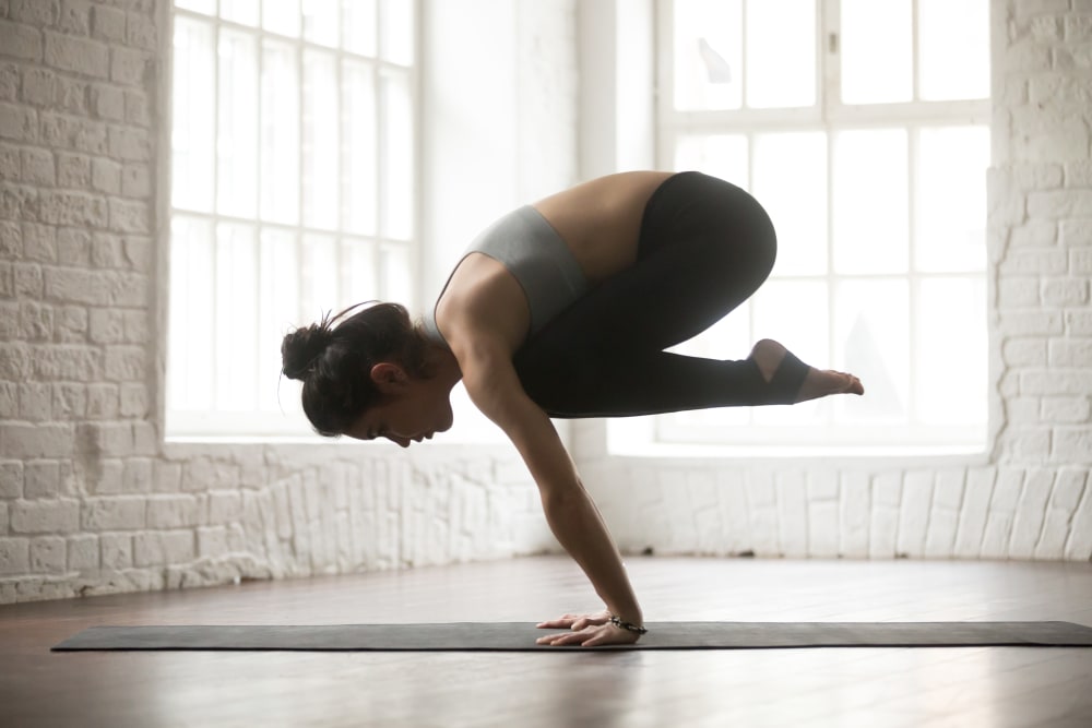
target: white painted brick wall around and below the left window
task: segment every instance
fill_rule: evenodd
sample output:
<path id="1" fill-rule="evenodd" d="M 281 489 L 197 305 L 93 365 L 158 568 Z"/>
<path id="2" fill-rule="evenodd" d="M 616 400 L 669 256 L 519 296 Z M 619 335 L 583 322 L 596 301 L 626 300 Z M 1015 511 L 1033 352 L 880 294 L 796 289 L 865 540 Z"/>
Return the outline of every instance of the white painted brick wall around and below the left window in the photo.
<path id="1" fill-rule="evenodd" d="M 509 447 L 164 445 L 167 11 L 0 0 L 0 604 L 547 548 Z M 571 16 L 536 3 L 511 43 L 519 86 L 570 119 Z M 521 139 L 568 148 L 535 111 L 513 108 Z"/>

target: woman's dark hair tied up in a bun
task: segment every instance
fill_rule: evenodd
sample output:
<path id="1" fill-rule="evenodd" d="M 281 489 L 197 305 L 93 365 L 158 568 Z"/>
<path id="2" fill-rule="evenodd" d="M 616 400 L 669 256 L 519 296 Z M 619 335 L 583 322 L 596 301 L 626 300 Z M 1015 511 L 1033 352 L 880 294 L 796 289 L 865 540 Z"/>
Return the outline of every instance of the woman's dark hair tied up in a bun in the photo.
<path id="1" fill-rule="evenodd" d="M 367 308 L 344 319 L 353 309 Z M 339 323 L 340 322 L 340 323 Z M 413 377 L 426 377 L 428 341 L 397 303 L 368 301 L 318 323 L 296 329 L 281 343 L 282 371 L 304 382 L 304 414 L 325 437 L 344 433 L 382 395 L 371 381 L 380 361 L 397 363 Z"/>

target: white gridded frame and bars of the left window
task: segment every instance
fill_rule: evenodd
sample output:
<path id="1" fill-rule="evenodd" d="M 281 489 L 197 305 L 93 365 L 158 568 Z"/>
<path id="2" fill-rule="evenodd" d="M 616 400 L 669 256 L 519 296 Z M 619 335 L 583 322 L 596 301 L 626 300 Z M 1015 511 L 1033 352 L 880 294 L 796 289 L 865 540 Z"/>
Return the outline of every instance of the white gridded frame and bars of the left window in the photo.
<path id="1" fill-rule="evenodd" d="M 356 302 L 361 302 L 364 300 L 379 299 L 388 300 L 391 298 L 396 298 L 400 302 L 404 303 L 411 310 L 417 308 L 418 299 L 422 296 L 422 260 L 420 260 L 420 184 L 418 180 L 420 179 L 420 166 L 422 166 L 422 114 L 420 114 L 420 59 L 422 59 L 422 48 L 420 48 L 420 34 L 422 34 L 422 8 L 419 0 L 404 0 L 405 4 L 408 5 L 411 16 L 411 24 L 407 29 L 407 40 L 412 44 L 412 55 L 408 58 L 407 63 L 399 62 L 401 59 L 392 59 L 388 57 L 387 50 L 384 48 L 384 8 L 391 2 L 397 2 L 397 0 L 376 0 L 373 8 L 373 22 L 375 22 L 375 48 L 373 56 L 366 56 L 361 52 L 356 52 L 346 48 L 345 40 L 345 29 L 344 24 L 339 23 L 337 27 L 337 39 L 335 45 L 323 45 L 313 39 L 306 37 L 306 26 L 305 26 L 305 7 L 304 2 L 296 5 L 299 12 L 298 23 L 298 34 L 293 36 L 282 35 L 276 32 L 272 32 L 266 28 L 263 24 L 262 12 L 264 10 L 264 3 L 271 0 L 256 0 L 258 19 L 256 25 L 247 25 L 244 23 L 235 22 L 221 16 L 221 1 L 210 0 L 209 4 L 212 10 L 209 13 L 191 10 L 186 7 L 177 7 L 176 2 L 169 3 L 167 12 L 165 15 L 168 17 L 168 38 L 166 40 L 168 50 L 168 62 L 167 70 L 164 74 L 165 85 L 167 86 L 167 97 L 168 102 L 166 104 L 166 114 L 163 121 L 164 124 L 164 139 L 168 140 L 165 144 L 164 158 L 167 159 L 166 170 L 162 175 L 161 179 L 165 182 L 165 192 L 163 198 L 163 208 L 166 213 L 167 225 L 165 226 L 164 236 L 167 238 L 166 241 L 166 258 L 169 261 L 164 267 L 164 275 L 167 277 L 168 282 L 174 282 L 175 272 L 173 271 L 173 264 L 175 262 L 175 246 L 179 244 L 179 241 L 175 240 L 173 234 L 173 228 L 176 220 L 191 220 L 207 224 L 213 230 L 212 241 L 209 243 L 211 253 L 211 265 L 212 270 L 216 271 L 216 259 L 217 259 L 217 235 L 216 229 L 218 225 L 242 225 L 250 228 L 250 236 L 252 238 L 251 244 L 253 247 L 253 267 L 254 276 L 258 283 L 254 285 L 254 295 L 257 300 L 254 302 L 256 314 L 253 320 L 249 317 L 237 320 L 233 319 L 229 323 L 230 327 L 236 326 L 254 326 L 259 327 L 261 325 L 266 325 L 269 327 L 269 322 L 265 321 L 266 313 L 262 310 L 262 283 L 261 276 L 261 264 L 262 264 L 262 236 L 265 230 L 278 231 L 282 234 L 287 234 L 294 236 L 295 241 L 295 254 L 296 261 L 302 267 L 306 260 L 304 255 L 304 248 L 308 244 L 305 242 L 307 236 L 327 236 L 332 240 L 332 248 L 334 251 L 334 263 L 332 270 L 335 272 L 336 281 L 333 287 L 339 291 L 337 296 L 329 297 L 329 303 L 325 302 L 323 298 L 322 309 L 310 310 L 310 307 L 306 306 L 307 296 L 302 293 L 298 294 L 297 297 L 297 310 L 292 317 L 292 320 L 275 321 L 275 325 L 281 335 L 286 333 L 294 326 L 306 325 L 312 321 L 317 321 L 327 309 L 332 309 L 334 312 L 341 309 L 343 306 L 348 306 Z M 306 1 L 306 0 L 305 0 Z M 344 17 L 342 13 L 347 11 L 348 4 L 352 0 L 336 0 L 335 5 L 337 8 L 339 19 Z M 175 144 L 174 144 L 174 124 L 176 119 L 175 114 L 175 100 L 177 98 L 177 93 L 175 88 L 175 82 L 178 75 L 175 72 L 176 64 L 176 53 L 175 53 L 175 33 L 176 33 L 176 20 L 178 17 L 187 19 L 190 22 L 199 22 L 209 25 L 212 28 L 212 53 L 213 53 L 213 65 L 212 65 L 212 79 L 213 88 L 211 89 L 210 106 L 212 108 L 212 122 L 211 127 L 213 129 L 212 138 L 212 150 L 206 151 L 211 156 L 211 204 L 205 211 L 191 210 L 186 207 L 180 207 L 176 205 L 177 198 L 175 195 L 174 182 L 175 182 Z M 221 80 L 221 61 L 219 61 L 219 39 L 222 31 L 227 29 L 232 33 L 240 33 L 250 36 L 253 39 L 253 52 L 254 52 L 254 68 L 253 68 L 253 84 L 254 84 L 254 98 L 258 105 L 258 109 L 254 115 L 256 134 L 261 134 L 264 126 L 268 122 L 262 115 L 262 64 L 263 64 L 263 48 L 264 41 L 273 40 L 277 44 L 284 44 L 292 48 L 292 58 L 295 62 L 295 69 L 297 75 L 296 87 L 295 87 L 295 103 L 296 103 L 296 118 L 294 119 L 295 126 L 295 150 L 298 154 L 296 159 L 298 180 L 297 186 L 297 210 L 296 210 L 296 222 L 295 224 L 285 224 L 282 222 L 275 222 L 266 216 L 263 216 L 262 200 L 260 188 L 254 190 L 254 202 L 252 214 L 240 216 L 238 214 L 226 214 L 219 210 L 219 198 L 217 186 L 221 183 L 221 172 L 219 172 L 219 157 L 216 151 L 218 144 L 221 128 L 219 128 L 219 116 L 221 116 L 221 98 L 219 98 L 219 80 Z M 308 220 L 305 220 L 305 208 L 304 208 L 304 177 L 305 177 L 305 160 L 304 157 L 307 153 L 306 151 L 306 132 L 305 132 L 305 117 L 307 115 L 306 109 L 306 98 L 307 89 L 305 88 L 305 53 L 306 51 L 313 51 L 317 53 L 322 53 L 324 57 L 332 58 L 336 65 L 336 79 L 332 82 L 334 87 L 334 97 L 336 98 L 337 108 L 337 182 L 336 189 L 339 194 L 340 204 L 336 207 L 336 224 L 330 227 L 320 227 L 310 225 Z M 372 172 L 372 189 L 375 192 L 375 198 L 372 204 L 375 205 L 375 224 L 373 229 L 370 232 L 361 232 L 359 230 L 349 229 L 351 225 L 346 217 L 346 205 L 349 195 L 347 191 L 349 189 L 349 183 L 347 181 L 347 167 L 348 167 L 348 152 L 347 152 L 347 141 L 346 141 L 346 130 L 352 120 L 348 118 L 346 111 L 346 97 L 345 97 L 345 68 L 346 63 L 357 63 L 359 67 L 366 67 L 368 70 L 366 73 L 370 75 L 370 83 L 372 88 L 372 103 L 373 108 L 371 122 L 373 123 L 375 136 L 373 136 L 373 147 L 372 153 L 375 154 L 375 171 Z M 408 154 L 411 158 L 410 168 L 405 171 L 408 175 L 410 183 L 407 187 L 407 198 L 405 200 L 406 205 L 408 205 L 408 235 L 393 235 L 390 229 L 387 229 L 384 215 L 388 208 L 388 200 L 385 195 L 389 193 L 388 184 L 384 180 L 388 179 L 387 175 L 391 168 L 391 163 L 389 159 L 389 141 L 391 138 L 390 129 L 388 128 L 389 111 L 392 107 L 390 98 L 387 96 L 384 91 L 384 79 L 395 77 L 395 83 L 404 84 L 404 87 L 408 91 L 407 103 L 408 103 L 408 119 L 412 128 L 408 135 Z M 256 140 L 254 142 L 254 165 L 256 174 L 253 179 L 260 181 L 263 175 L 262 168 L 262 151 L 261 141 Z M 368 251 L 364 253 L 365 259 L 370 260 L 370 276 L 373 282 L 373 286 L 366 286 L 368 290 L 360 290 L 359 293 L 351 293 L 347 290 L 351 279 L 351 267 L 345 264 L 346 251 L 354 243 L 364 243 L 368 247 Z M 404 284 L 404 288 L 408 290 L 408 295 L 390 295 L 390 283 L 383 275 L 387 263 L 384 258 L 394 251 L 404 261 L 404 264 L 394 264 L 397 268 L 396 274 L 401 277 Z M 302 291 L 302 274 L 299 275 L 295 281 L 295 286 L 298 291 Z M 277 278 L 274 276 L 273 281 Z M 324 288 L 323 282 L 317 282 L 312 284 L 316 288 Z M 216 296 L 217 284 L 215 281 L 211 283 L 204 293 L 212 297 Z M 168 285 L 168 289 L 173 289 L 174 286 Z M 359 289 L 357 289 L 359 290 Z M 269 347 L 265 346 L 268 341 L 263 341 L 261 334 L 254 334 L 257 342 L 257 350 L 254 353 L 254 392 L 253 392 L 253 407 L 244 410 L 225 410 L 217 409 L 217 403 L 215 402 L 215 391 L 209 394 L 211 406 L 202 409 L 181 409 L 176 405 L 176 399 L 179 398 L 178 392 L 185 390 L 178 389 L 178 378 L 187 377 L 185 370 L 180 370 L 179 361 L 180 358 L 177 353 L 173 353 L 173 348 L 181 348 L 179 346 L 180 338 L 176 331 L 173 331 L 176 324 L 176 319 L 173 315 L 173 311 L 185 306 L 185 300 L 176 295 L 177 291 L 168 291 L 166 299 L 167 313 L 165 317 L 167 332 L 165 334 L 164 343 L 166 347 L 166 373 L 165 373 L 165 395 L 163 399 L 164 408 L 164 421 L 165 421 L 165 435 L 168 440 L 201 440 L 201 439 L 316 439 L 311 432 L 311 428 L 307 422 L 306 418 L 302 416 L 297 382 L 292 382 L 283 377 L 277 377 L 280 372 L 280 359 L 277 358 L 277 353 L 275 350 L 266 350 Z M 215 322 L 223 314 L 217 312 L 216 301 L 214 300 L 211 305 L 213 311 L 213 321 Z M 218 329 L 218 326 L 217 326 Z M 215 362 L 215 357 L 217 356 L 215 348 L 217 346 L 217 337 L 219 336 L 218 331 L 212 331 L 209 333 L 207 337 L 204 339 L 211 347 L 212 350 L 209 353 L 211 361 Z M 278 345 L 280 342 L 276 342 Z M 173 356 L 176 354 L 176 356 Z M 213 363 L 211 366 L 213 385 L 215 389 L 215 370 L 216 366 Z M 270 408 L 269 405 L 275 407 L 275 409 Z"/>

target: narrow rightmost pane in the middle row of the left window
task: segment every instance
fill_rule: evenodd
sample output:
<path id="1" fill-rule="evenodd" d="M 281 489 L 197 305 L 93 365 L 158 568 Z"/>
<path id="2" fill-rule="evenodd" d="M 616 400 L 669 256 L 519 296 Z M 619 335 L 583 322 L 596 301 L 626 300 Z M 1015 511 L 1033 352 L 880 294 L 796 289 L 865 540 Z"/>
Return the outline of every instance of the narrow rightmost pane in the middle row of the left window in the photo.
<path id="1" fill-rule="evenodd" d="M 410 76 L 384 73 L 383 104 L 383 236 L 408 240 L 413 236 L 413 99 Z"/>

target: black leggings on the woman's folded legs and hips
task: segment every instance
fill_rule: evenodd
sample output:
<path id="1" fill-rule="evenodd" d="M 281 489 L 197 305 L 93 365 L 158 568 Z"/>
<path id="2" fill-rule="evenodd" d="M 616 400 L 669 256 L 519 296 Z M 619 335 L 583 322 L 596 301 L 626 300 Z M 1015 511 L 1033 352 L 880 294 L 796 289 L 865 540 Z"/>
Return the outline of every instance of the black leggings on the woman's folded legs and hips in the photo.
<path id="1" fill-rule="evenodd" d="M 747 192 L 700 172 L 668 178 L 644 208 L 637 262 L 515 353 L 524 390 L 559 418 L 770 404 L 770 385 L 751 359 L 664 349 L 749 298 L 776 250 L 770 217 Z"/>

